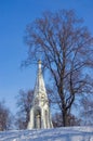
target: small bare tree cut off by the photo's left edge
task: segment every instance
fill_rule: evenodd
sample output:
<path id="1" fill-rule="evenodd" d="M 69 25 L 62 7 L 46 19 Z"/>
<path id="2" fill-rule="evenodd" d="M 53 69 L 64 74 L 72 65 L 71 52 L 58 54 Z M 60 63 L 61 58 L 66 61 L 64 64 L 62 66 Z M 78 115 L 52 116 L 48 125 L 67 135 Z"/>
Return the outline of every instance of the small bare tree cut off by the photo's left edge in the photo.
<path id="1" fill-rule="evenodd" d="M 0 131 L 12 128 L 12 114 L 5 106 L 4 102 L 0 102 Z"/>

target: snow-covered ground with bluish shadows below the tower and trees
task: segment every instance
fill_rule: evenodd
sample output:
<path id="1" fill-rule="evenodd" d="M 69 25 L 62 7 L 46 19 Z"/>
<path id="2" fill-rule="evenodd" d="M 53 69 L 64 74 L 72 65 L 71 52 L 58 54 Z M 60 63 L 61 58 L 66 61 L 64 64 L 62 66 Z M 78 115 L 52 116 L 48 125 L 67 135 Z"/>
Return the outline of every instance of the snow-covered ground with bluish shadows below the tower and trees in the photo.
<path id="1" fill-rule="evenodd" d="M 2 131 L 0 141 L 93 141 L 93 127 Z"/>

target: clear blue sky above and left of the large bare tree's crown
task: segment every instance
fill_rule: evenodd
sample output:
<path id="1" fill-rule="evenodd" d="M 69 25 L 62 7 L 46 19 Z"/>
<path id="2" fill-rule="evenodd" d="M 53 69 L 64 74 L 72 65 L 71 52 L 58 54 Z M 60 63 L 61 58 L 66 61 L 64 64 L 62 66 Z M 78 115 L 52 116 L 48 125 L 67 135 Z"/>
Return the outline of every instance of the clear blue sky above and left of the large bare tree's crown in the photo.
<path id="1" fill-rule="evenodd" d="M 75 9 L 93 34 L 93 0 L 0 0 L 0 101 L 13 113 L 19 89 L 32 89 L 36 80 L 35 66 L 19 67 L 27 57 L 26 25 L 43 11 L 61 9 Z"/>

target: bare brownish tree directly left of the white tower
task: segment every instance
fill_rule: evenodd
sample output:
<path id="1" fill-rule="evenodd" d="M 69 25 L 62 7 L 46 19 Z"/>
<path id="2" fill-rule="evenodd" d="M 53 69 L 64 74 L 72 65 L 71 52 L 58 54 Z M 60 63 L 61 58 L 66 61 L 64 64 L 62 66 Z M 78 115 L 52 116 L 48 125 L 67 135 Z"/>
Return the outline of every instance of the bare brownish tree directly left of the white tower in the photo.
<path id="1" fill-rule="evenodd" d="M 34 91 L 29 90 L 27 92 L 21 90 L 17 95 L 17 107 L 18 111 L 16 113 L 15 126 L 18 129 L 26 129 L 27 124 L 29 121 L 29 111 L 31 107 Z"/>

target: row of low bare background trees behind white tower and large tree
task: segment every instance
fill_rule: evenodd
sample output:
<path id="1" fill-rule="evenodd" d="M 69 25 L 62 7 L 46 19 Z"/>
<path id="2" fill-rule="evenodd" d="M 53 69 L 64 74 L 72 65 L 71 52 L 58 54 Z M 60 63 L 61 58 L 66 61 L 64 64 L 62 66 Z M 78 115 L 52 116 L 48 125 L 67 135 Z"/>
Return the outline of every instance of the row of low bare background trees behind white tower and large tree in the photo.
<path id="1" fill-rule="evenodd" d="M 63 118 L 62 113 L 56 112 L 55 103 L 52 103 L 50 100 L 50 108 L 51 114 L 53 113 L 52 121 L 54 128 L 63 127 Z M 6 107 L 4 102 L 0 102 L 0 131 L 4 130 L 13 130 L 13 129 L 27 129 L 27 124 L 29 121 L 29 111 L 31 108 L 31 102 L 34 97 L 34 90 L 24 91 L 21 90 L 17 94 L 17 112 L 13 116 L 10 110 Z M 51 106 L 52 105 L 52 106 Z M 68 126 L 93 126 L 93 98 L 84 97 L 80 100 L 80 103 L 75 105 L 76 111 L 78 111 L 79 115 L 75 113 L 70 113 L 68 115 Z M 80 110 L 81 108 L 81 110 Z"/>

